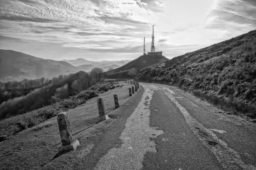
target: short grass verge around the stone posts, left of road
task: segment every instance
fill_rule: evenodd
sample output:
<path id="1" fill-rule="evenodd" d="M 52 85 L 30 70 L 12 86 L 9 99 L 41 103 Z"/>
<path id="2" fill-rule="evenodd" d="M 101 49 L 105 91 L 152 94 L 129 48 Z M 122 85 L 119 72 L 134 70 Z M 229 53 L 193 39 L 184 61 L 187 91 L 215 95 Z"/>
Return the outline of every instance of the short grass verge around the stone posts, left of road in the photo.
<path id="1" fill-rule="evenodd" d="M 120 114 L 119 109 L 114 109 L 113 95 L 118 94 L 119 105 L 122 107 L 129 97 L 128 88 L 131 86 L 127 83 L 119 83 L 120 87 L 116 87 L 102 94 L 106 113 L 114 118 Z M 121 87 L 122 86 L 122 87 Z M 142 89 L 142 88 L 141 88 Z M 86 103 L 79 105 L 73 109 L 68 109 L 72 134 L 75 139 L 79 139 L 80 147 L 75 154 L 62 155 L 60 161 L 52 164 L 55 168 L 63 169 L 72 159 L 81 159 L 84 149 L 87 146 L 87 139 L 94 136 L 97 132 L 103 130 L 104 127 L 111 124 L 113 119 L 103 121 L 85 131 L 81 131 L 97 122 L 98 107 L 97 97 L 89 99 Z M 32 113 L 30 113 L 32 114 Z M 79 132 L 81 131 L 81 132 Z M 79 132 L 79 133 L 77 133 Z M 76 134 L 77 133 L 77 134 Z M 0 145 L 1 168 L 3 169 L 38 169 L 43 168 L 45 164 L 51 162 L 53 156 L 57 153 L 57 146 L 60 145 L 60 136 L 57 125 L 57 118 L 52 117 L 32 128 L 27 128 L 2 141 Z M 71 165 L 72 166 L 72 165 Z M 54 167 L 52 167 L 54 168 Z M 54 169 L 55 169 L 54 168 Z"/>

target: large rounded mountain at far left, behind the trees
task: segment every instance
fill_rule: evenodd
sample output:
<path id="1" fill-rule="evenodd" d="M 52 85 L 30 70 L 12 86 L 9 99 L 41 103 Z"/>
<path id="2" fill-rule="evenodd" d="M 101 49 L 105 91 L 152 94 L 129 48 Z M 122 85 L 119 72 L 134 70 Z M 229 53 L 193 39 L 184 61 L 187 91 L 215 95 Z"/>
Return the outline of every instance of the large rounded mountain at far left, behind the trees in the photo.
<path id="1" fill-rule="evenodd" d="M 80 71 L 67 62 L 44 60 L 22 52 L 0 50 L 0 81 L 58 77 Z"/>

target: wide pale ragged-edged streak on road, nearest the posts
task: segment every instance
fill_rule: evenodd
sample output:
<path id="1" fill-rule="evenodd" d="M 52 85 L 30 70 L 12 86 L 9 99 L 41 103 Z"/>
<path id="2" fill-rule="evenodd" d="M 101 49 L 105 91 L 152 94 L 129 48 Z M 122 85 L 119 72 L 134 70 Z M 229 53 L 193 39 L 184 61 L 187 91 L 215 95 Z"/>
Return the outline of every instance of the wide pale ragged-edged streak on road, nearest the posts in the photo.
<path id="1" fill-rule="evenodd" d="M 156 138 L 163 134 L 163 131 L 156 130 L 156 127 L 150 127 L 150 102 L 154 90 L 158 88 L 151 85 L 143 87 L 145 92 L 142 99 L 133 114 L 127 119 L 125 129 L 120 136 L 123 141 L 122 146 L 110 149 L 100 158 L 95 169 L 141 169 L 146 152 L 156 152 L 156 144 L 150 138 Z M 147 105 L 144 104 L 146 97 L 149 98 Z"/>

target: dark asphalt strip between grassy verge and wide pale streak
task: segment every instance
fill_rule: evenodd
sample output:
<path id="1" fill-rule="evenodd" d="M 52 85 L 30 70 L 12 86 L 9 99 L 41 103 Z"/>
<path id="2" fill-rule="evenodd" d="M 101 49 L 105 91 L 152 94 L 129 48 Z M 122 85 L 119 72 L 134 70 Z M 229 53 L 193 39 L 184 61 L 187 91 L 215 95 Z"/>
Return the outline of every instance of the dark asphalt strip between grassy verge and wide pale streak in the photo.
<path id="1" fill-rule="evenodd" d="M 80 163 L 73 165 L 74 169 L 94 169 L 99 159 L 107 154 L 111 148 L 118 148 L 122 145 L 123 142 L 120 140 L 120 135 L 125 128 L 127 119 L 141 101 L 143 92 L 143 87 L 140 87 L 138 92 L 133 94 L 130 100 L 116 110 L 120 114 L 116 117 L 113 123 L 107 129 L 102 131 L 100 135 L 95 135 L 95 137 L 88 140 L 88 143 L 94 145 L 94 147 L 91 149 L 90 153 L 83 156 Z"/>

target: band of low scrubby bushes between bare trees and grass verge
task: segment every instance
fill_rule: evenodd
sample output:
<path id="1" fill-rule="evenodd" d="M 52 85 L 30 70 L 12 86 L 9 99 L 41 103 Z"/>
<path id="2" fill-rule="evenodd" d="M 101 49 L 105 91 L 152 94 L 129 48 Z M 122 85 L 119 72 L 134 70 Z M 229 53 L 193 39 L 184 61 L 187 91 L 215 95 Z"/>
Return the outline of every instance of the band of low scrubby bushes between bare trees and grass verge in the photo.
<path id="1" fill-rule="evenodd" d="M 78 105 L 85 103 L 87 100 L 99 96 L 99 94 L 119 87 L 118 83 L 102 82 L 93 85 L 88 90 L 83 90 L 79 94 L 68 99 L 55 101 L 52 105 L 48 105 L 32 112 L 26 113 L 19 117 L 12 117 L 0 122 L 0 136 L 11 136 L 24 129 L 31 128 L 51 117 L 57 116 L 60 112 L 65 112 L 67 109 L 75 108 Z M 121 86 L 120 86 L 121 87 Z"/>

